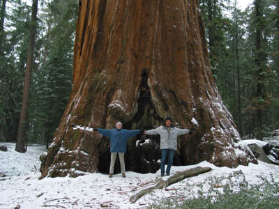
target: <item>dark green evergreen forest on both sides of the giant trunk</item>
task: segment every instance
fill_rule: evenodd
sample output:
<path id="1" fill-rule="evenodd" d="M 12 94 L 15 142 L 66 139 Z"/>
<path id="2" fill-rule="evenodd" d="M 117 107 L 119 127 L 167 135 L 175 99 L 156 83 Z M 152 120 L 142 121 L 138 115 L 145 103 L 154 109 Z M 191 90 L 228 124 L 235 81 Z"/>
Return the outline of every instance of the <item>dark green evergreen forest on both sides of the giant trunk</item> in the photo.
<path id="1" fill-rule="evenodd" d="M 30 34 L 35 31 L 26 141 L 48 144 L 72 88 L 77 0 L 1 0 L 0 141 L 17 141 Z M 277 0 L 199 0 L 211 70 L 242 137 L 279 127 Z M 32 21 L 33 20 L 33 21 Z M 36 30 L 33 30 L 36 26 Z"/>

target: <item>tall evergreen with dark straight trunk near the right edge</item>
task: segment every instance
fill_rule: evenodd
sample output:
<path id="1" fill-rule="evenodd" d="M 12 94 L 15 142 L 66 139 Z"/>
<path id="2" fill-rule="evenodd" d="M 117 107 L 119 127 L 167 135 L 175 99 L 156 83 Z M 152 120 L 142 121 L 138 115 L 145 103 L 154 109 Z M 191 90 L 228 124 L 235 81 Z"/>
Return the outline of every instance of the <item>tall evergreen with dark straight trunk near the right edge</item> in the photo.
<path id="1" fill-rule="evenodd" d="M 250 97 L 247 108 L 252 123 L 252 132 L 257 139 L 263 139 L 263 132 L 271 125 L 268 117 L 271 109 L 271 84 L 275 75 L 270 69 L 272 63 L 270 54 L 271 40 L 274 36 L 269 21 L 270 1 L 254 1 L 254 9 L 250 13 L 248 42 L 250 46 Z M 270 27 L 271 26 L 271 27 Z M 273 116 L 271 116 L 272 118 Z"/>

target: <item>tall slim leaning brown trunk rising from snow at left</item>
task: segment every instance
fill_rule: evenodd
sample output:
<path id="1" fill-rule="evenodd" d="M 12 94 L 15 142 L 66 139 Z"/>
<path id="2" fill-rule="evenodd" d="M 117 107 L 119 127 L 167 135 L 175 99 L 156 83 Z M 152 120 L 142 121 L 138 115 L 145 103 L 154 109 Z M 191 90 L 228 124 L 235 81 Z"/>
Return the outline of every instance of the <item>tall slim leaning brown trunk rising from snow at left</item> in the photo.
<path id="1" fill-rule="evenodd" d="M 20 111 L 20 125 L 17 132 L 17 145 L 15 150 L 20 153 L 26 151 L 25 146 L 27 145 L 27 127 L 28 127 L 28 101 L 29 91 L 31 84 L 31 70 L 33 64 L 33 52 L 35 47 L 35 36 L 36 36 L 36 19 L 38 11 L 38 0 L 33 0 L 32 5 L 32 16 L 30 24 L 30 37 L 29 37 L 29 49 L 27 54 L 27 66 L 24 79 L 24 88 L 22 95 L 22 109 Z"/>

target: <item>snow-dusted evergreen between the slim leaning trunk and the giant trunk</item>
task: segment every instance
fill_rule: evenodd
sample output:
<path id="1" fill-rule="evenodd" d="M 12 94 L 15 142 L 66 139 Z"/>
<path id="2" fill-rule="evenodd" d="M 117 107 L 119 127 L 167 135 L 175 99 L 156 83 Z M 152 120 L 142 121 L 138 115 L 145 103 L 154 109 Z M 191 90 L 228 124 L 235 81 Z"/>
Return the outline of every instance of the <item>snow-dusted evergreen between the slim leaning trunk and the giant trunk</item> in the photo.
<path id="1" fill-rule="evenodd" d="M 30 131 L 33 140 L 46 144 L 59 125 L 72 88 L 77 9 L 75 0 L 52 1 L 41 16 L 47 33 L 40 40 L 43 56 L 32 91 Z"/>

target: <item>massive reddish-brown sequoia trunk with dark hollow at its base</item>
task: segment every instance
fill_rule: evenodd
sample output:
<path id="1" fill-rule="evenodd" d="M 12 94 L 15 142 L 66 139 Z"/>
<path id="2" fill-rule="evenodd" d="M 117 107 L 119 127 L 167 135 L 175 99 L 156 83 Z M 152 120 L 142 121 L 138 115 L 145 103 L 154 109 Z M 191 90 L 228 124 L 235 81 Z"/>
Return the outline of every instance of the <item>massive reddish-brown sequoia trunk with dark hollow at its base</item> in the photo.
<path id="1" fill-rule="evenodd" d="M 257 162 L 248 148 L 236 146 L 239 133 L 211 75 L 197 4 L 80 1 L 73 91 L 41 178 L 107 173 L 110 141 L 89 127 L 113 128 L 121 121 L 124 128 L 147 130 L 166 116 L 197 129 L 179 137 L 174 164 Z M 128 141 L 126 169 L 156 172 L 159 138 L 137 139 Z"/>

